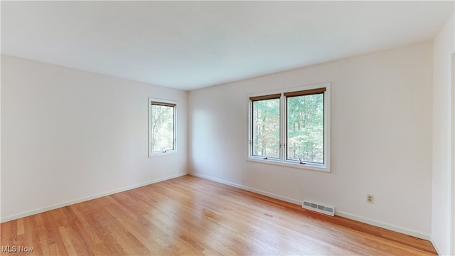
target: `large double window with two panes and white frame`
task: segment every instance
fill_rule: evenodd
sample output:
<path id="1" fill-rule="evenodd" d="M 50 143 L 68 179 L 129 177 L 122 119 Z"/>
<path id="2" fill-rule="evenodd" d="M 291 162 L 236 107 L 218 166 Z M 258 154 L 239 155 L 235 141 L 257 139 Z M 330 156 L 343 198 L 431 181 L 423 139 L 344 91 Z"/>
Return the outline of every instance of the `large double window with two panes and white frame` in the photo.
<path id="1" fill-rule="evenodd" d="M 250 160 L 329 171 L 329 83 L 249 100 Z"/>

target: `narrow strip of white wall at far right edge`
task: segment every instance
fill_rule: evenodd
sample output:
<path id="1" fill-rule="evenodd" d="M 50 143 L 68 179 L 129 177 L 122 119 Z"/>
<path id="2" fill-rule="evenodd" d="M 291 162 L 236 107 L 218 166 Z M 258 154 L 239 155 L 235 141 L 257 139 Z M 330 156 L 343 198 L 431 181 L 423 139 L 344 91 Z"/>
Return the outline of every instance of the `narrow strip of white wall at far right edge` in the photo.
<path id="1" fill-rule="evenodd" d="M 433 65 L 433 205 L 432 241 L 440 255 L 450 255 L 451 218 L 451 55 L 455 52 L 454 14 L 434 38 Z"/>

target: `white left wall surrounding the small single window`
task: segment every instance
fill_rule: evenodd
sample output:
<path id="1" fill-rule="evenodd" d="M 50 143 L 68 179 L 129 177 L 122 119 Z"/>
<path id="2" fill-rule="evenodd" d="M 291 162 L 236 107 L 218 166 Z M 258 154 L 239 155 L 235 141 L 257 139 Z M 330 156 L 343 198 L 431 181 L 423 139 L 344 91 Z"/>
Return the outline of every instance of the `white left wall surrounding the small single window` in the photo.
<path id="1" fill-rule="evenodd" d="M 148 158 L 148 97 L 179 102 Z M 1 56 L 1 221 L 187 174 L 188 92 Z"/>

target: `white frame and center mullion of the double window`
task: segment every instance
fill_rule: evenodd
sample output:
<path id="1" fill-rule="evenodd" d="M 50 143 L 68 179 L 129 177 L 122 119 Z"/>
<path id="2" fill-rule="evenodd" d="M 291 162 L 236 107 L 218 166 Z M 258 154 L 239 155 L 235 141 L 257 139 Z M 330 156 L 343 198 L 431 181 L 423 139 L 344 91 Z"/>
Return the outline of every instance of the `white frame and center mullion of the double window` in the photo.
<path id="1" fill-rule="evenodd" d="M 323 164 L 314 164 L 310 162 L 305 162 L 305 164 L 300 164 L 299 161 L 294 160 L 287 160 L 287 145 L 286 145 L 286 133 L 287 133 L 287 100 L 284 96 L 284 93 L 287 92 L 296 92 L 301 90 L 311 90 L 325 87 L 326 91 L 323 93 L 324 97 L 324 159 Z M 250 97 L 258 97 L 264 95 L 274 95 L 274 94 L 281 94 L 280 97 L 280 110 L 279 110 L 279 142 L 280 142 L 280 149 L 279 149 L 279 159 L 264 159 L 262 156 L 254 156 L 252 154 L 252 100 Z M 262 164 L 274 164 L 279 166 L 288 166 L 293 168 L 299 169 L 308 169 L 313 171 L 325 171 L 330 172 L 330 120 L 331 120 L 331 83 L 330 82 L 323 82 L 314 85 L 305 85 L 301 87 L 294 87 L 288 88 L 283 90 L 274 90 L 269 92 L 260 92 L 255 94 L 247 95 L 248 101 L 248 139 L 247 139 L 247 161 L 254 161 Z"/>

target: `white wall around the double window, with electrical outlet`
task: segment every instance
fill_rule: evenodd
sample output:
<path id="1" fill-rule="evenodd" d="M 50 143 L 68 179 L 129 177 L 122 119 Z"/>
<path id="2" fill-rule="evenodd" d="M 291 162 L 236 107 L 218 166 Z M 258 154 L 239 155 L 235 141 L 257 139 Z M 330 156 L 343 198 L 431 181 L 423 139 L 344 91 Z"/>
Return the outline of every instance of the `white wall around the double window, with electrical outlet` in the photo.
<path id="1" fill-rule="evenodd" d="M 331 173 L 246 161 L 247 95 L 326 81 Z M 430 238 L 431 43 L 194 90 L 188 112 L 191 174 Z"/>

